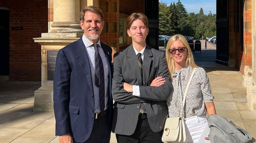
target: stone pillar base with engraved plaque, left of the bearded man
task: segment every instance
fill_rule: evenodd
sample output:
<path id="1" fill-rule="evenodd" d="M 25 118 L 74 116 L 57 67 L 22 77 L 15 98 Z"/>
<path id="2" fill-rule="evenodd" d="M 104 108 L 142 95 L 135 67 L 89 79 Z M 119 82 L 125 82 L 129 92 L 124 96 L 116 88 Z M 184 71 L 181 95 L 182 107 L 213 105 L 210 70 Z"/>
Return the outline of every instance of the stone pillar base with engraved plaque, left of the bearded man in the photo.
<path id="1" fill-rule="evenodd" d="M 42 38 L 34 38 L 35 42 L 41 44 L 42 52 L 42 86 L 34 92 L 34 111 L 53 112 L 53 72 L 50 71 L 54 71 L 55 61 L 51 56 L 55 57 L 56 51 L 78 40 L 82 35 L 83 33 L 42 33 Z M 53 55 L 48 55 L 49 51 Z"/>

